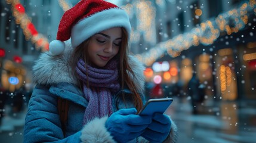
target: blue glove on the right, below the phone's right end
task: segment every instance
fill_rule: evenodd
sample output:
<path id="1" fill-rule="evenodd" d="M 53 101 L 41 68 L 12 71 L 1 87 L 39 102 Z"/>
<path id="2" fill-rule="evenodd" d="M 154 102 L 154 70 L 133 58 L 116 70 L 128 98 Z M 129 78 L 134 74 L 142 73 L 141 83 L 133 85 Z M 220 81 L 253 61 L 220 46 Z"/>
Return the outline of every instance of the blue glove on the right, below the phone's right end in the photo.
<path id="1" fill-rule="evenodd" d="M 153 115 L 152 123 L 141 134 L 143 138 L 150 142 L 163 142 L 171 130 L 171 120 L 168 116 L 161 113 Z"/>

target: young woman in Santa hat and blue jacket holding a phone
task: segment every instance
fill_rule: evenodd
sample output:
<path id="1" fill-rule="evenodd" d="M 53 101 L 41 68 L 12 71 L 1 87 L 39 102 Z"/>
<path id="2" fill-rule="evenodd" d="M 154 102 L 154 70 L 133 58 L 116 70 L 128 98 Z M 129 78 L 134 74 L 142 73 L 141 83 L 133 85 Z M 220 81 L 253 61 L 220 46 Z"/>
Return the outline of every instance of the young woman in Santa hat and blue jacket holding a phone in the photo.
<path id="1" fill-rule="evenodd" d="M 82 0 L 64 13 L 57 40 L 33 67 L 24 142 L 176 141 L 168 116 L 136 114 L 144 67 L 128 53 L 130 32 L 128 15 L 109 2 Z"/>

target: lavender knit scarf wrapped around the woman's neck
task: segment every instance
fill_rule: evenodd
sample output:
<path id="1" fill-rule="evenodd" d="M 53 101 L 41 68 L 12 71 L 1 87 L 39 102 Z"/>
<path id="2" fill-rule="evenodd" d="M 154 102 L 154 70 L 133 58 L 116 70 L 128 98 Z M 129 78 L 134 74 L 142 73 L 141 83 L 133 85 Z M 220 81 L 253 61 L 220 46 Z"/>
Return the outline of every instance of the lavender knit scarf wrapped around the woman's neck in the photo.
<path id="1" fill-rule="evenodd" d="M 84 114 L 84 125 L 95 117 L 112 114 L 111 91 L 119 90 L 117 61 L 109 61 L 104 69 L 96 69 L 79 60 L 76 72 L 83 82 L 83 90 L 88 106 Z M 87 87 L 89 83 L 89 88 Z"/>

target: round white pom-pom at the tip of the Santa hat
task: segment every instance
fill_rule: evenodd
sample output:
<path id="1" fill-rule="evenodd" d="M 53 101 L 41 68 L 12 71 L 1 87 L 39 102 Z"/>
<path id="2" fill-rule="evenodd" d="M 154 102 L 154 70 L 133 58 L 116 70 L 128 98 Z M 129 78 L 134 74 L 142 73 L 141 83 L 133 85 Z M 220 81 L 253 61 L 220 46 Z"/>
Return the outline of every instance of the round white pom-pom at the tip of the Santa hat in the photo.
<path id="1" fill-rule="evenodd" d="M 65 43 L 58 40 L 51 41 L 49 45 L 49 49 L 51 54 L 60 55 L 65 49 Z"/>

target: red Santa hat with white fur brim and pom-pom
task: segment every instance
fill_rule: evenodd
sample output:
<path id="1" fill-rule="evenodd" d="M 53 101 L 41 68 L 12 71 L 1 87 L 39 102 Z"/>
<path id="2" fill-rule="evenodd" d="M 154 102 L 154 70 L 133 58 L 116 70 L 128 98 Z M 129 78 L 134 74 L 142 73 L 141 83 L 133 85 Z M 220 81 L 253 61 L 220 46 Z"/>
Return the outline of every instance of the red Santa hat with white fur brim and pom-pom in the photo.
<path id="1" fill-rule="evenodd" d="M 92 35 L 112 27 L 124 27 L 128 35 L 131 33 L 129 17 L 124 10 L 103 0 L 81 0 L 61 18 L 57 38 L 50 42 L 50 52 L 59 55 L 64 51 L 64 41 L 71 39 L 75 48 Z"/>

